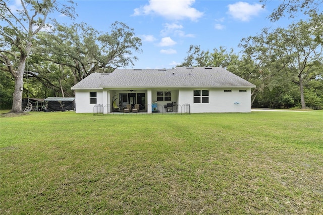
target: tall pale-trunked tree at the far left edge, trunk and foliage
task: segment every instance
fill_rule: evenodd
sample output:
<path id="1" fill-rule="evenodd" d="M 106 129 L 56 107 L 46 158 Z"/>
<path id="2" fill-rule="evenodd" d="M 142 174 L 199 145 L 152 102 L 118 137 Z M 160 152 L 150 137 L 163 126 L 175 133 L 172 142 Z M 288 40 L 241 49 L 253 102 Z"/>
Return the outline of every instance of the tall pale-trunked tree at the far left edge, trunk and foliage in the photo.
<path id="1" fill-rule="evenodd" d="M 15 80 L 13 113 L 22 112 L 23 76 L 35 35 L 46 27 L 50 14 L 60 12 L 71 18 L 75 14 L 71 0 L 21 0 L 20 3 L 18 9 L 13 9 L 9 6 L 10 1 L 0 1 L 0 62 L 3 64 L 1 69 Z"/>

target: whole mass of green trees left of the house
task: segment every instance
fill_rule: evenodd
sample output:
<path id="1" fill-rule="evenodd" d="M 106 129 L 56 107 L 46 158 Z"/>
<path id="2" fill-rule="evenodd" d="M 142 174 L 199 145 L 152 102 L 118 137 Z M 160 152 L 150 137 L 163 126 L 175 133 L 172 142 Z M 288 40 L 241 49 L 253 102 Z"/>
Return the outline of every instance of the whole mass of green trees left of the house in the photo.
<path id="1" fill-rule="evenodd" d="M 73 19 L 71 0 L 22 0 L 22 9 L 15 11 L 9 2 L 0 0 L 2 109 L 22 112 L 22 97 L 74 96 L 71 87 L 89 74 L 133 66 L 133 52 L 141 52 L 141 39 L 122 22 L 113 23 L 109 32 L 55 19 L 47 24 L 56 11 Z"/>

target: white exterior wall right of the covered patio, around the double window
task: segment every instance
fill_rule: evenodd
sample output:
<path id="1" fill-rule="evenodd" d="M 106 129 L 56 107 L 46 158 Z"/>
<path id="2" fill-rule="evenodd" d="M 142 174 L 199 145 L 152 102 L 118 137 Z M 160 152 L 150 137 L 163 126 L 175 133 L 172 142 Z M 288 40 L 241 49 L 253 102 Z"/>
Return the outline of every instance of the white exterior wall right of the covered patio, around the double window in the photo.
<path id="1" fill-rule="evenodd" d="M 208 103 L 194 103 L 194 89 L 181 89 L 179 91 L 178 104 L 190 104 L 191 113 L 249 113 L 251 111 L 250 88 L 203 88 L 203 90 L 208 90 Z M 196 88 L 196 90 L 198 89 Z M 224 90 L 231 90 L 231 92 L 224 92 Z M 239 92 L 239 90 L 247 90 L 247 92 Z"/>

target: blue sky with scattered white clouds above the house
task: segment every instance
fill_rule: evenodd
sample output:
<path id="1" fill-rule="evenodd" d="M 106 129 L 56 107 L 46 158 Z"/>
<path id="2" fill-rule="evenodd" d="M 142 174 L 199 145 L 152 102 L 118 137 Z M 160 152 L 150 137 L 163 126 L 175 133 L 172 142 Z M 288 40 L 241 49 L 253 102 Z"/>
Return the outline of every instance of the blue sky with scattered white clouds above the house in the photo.
<path id="1" fill-rule="evenodd" d="M 57 21 L 70 24 L 85 22 L 95 29 L 109 32 L 115 21 L 134 28 L 142 39 L 142 53 L 137 69 L 172 68 L 187 56 L 190 45 L 203 50 L 220 46 L 239 51 L 243 37 L 254 36 L 264 27 L 286 27 L 295 19 L 285 17 L 272 23 L 266 18 L 281 1 L 268 0 L 265 8 L 259 1 L 218 0 L 147 0 L 147 1 L 75 1 L 78 17 L 74 21 L 57 16 Z"/>

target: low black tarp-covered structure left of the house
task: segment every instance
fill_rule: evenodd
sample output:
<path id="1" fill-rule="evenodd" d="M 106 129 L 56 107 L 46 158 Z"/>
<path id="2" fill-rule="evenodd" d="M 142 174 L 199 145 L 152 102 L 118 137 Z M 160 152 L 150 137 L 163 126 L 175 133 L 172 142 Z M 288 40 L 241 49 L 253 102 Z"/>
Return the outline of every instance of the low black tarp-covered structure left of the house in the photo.
<path id="1" fill-rule="evenodd" d="M 48 97 L 44 99 L 47 111 L 74 111 L 74 97 Z"/>

